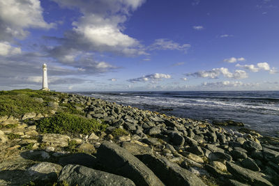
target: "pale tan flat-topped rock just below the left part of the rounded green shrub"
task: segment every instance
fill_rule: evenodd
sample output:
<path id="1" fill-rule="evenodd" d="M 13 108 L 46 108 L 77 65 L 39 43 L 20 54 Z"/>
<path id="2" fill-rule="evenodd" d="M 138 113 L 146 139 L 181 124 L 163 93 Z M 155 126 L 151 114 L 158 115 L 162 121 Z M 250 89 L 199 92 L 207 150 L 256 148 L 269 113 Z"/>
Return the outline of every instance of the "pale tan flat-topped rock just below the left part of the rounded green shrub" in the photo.
<path id="1" fill-rule="evenodd" d="M 48 146 L 60 146 L 65 147 L 68 146 L 68 141 L 70 141 L 70 137 L 62 134 L 44 134 L 42 138 L 42 142 L 47 144 Z"/>

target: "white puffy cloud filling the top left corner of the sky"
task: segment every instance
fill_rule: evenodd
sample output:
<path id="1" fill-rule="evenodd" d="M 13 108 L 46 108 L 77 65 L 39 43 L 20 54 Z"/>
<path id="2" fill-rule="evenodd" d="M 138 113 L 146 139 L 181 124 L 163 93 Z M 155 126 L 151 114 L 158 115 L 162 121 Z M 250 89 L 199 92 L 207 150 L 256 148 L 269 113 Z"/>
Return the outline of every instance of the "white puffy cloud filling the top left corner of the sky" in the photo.
<path id="1" fill-rule="evenodd" d="M 39 0 L 0 0 L 0 40 L 25 38 L 28 28 L 50 29 L 53 23 L 43 19 Z"/>

